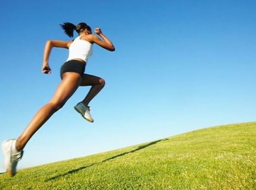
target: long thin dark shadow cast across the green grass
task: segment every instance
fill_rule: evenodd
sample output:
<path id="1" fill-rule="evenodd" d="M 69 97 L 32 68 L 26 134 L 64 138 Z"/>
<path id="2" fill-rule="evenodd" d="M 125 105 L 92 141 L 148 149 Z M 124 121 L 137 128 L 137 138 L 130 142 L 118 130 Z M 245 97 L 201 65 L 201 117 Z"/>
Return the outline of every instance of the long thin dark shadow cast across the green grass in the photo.
<path id="1" fill-rule="evenodd" d="M 79 168 L 77 168 L 77 169 L 70 170 L 70 171 L 68 171 L 67 173 L 63 173 L 63 174 L 61 174 L 61 175 L 57 175 L 57 176 L 54 176 L 54 177 L 52 177 L 52 178 L 46 179 L 45 182 L 48 182 L 48 181 L 52 181 L 52 180 L 61 178 L 61 177 L 64 177 L 64 176 L 66 176 L 66 175 L 70 175 L 70 174 L 72 174 L 72 173 L 79 172 L 80 170 L 86 169 L 86 168 L 91 167 L 91 166 L 94 166 L 94 165 L 96 165 L 96 164 L 100 164 L 100 163 L 107 162 L 107 161 L 109 161 L 109 160 L 116 159 L 117 157 L 121 157 L 121 156 L 124 156 L 124 155 L 126 155 L 126 154 L 135 153 L 136 151 L 142 150 L 143 148 L 147 148 L 147 147 L 149 147 L 149 146 L 151 146 L 151 145 L 154 145 L 154 144 L 159 143 L 160 141 L 166 141 L 166 140 L 168 140 L 168 138 L 165 138 L 165 139 L 162 139 L 162 140 L 157 140 L 157 141 L 152 141 L 151 143 L 148 143 L 148 144 L 139 146 L 139 147 L 136 148 L 135 150 L 128 151 L 128 152 L 121 153 L 121 154 L 117 154 L 116 156 L 113 156 L 113 157 L 110 157 L 110 158 L 108 158 L 108 159 L 102 160 L 101 162 L 96 162 L 96 163 L 92 163 L 92 164 L 90 164 L 90 165 L 88 165 L 88 166 L 79 167 Z"/>

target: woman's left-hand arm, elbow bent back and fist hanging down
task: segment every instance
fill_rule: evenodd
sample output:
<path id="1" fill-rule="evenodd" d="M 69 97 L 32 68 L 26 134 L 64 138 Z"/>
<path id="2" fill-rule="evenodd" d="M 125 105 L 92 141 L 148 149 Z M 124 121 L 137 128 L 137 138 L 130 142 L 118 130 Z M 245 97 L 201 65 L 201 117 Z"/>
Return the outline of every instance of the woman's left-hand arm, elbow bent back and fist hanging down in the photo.
<path id="1" fill-rule="evenodd" d="M 70 42 L 64 42 L 60 40 L 48 40 L 45 44 L 45 50 L 43 52 L 43 66 L 42 66 L 42 72 L 45 74 L 51 73 L 51 68 L 49 66 L 49 56 L 51 54 L 52 47 L 63 47 L 67 48 L 70 46 Z"/>

